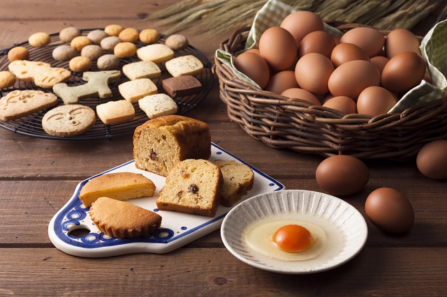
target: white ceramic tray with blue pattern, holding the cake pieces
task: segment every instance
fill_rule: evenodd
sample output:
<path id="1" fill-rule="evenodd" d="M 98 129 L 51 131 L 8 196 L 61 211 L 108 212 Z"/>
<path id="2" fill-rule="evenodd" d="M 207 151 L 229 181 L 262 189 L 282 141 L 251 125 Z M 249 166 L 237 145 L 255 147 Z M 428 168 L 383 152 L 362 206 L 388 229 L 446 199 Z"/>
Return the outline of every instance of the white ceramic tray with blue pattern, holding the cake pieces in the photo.
<path id="1" fill-rule="evenodd" d="M 249 165 L 216 144 L 212 144 L 209 160 L 219 159 L 236 160 L 237 162 Z M 238 203 L 254 195 L 284 189 L 284 185 L 275 181 L 270 176 L 263 174 L 263 172 L 260 172 L 254 167 L 251 167 L 251 169 L 253 169 L 255 174 L 254 186 Z M 228 211 L 238 204 L 235 204 L 233 207 L 219 206 L 214 218 L 175 213 L 173 211 L 159 211 L 156 208 L 155 201 L 166 181 L 164 176 L 136 168 L 134 160 L 102 172 L 101 174 L 112 172 L 137 172 L 147 176 L 147 178 L 150 178 L 154 182 L 156 186 L 154 197 L 132 199 L 129 202 L 158 212 L 162 217 L 160 229 L 150 236 L 132 239 L 117 239 L 106 236 L 101 231 L 98 231 L 94 223 L 91 222 L 89 208 L 86 208 L 78 198 L 82 186 L 89 179 L 95 177 L 92 176 L 78 184 L 73 197 L 54 215 L 48 225 L 48 235 L 56 248 L 67 254 L 79 257 L 111 257 L 138 252 L 163 254 L 180 248 L 219 229 Z M 101 174 L 97 174 L 96 176 Z M 73 230 L 75 229 L 85 229 L 88 234 L 84 236 L 73 235 Z"/>

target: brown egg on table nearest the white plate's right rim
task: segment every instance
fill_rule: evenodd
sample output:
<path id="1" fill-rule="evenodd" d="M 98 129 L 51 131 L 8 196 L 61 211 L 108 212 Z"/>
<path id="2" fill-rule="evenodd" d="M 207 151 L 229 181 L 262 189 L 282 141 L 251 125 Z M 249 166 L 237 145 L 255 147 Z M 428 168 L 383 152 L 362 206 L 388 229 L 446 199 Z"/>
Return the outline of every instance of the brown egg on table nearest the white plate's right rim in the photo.
<path id="1" fill-rule="evenodd" d="M 393 188 L 372 191 L 365 201 L 365 213 L 372 224 L 386 232 L 408 231 L 414 222 L 410 201 Z"/>

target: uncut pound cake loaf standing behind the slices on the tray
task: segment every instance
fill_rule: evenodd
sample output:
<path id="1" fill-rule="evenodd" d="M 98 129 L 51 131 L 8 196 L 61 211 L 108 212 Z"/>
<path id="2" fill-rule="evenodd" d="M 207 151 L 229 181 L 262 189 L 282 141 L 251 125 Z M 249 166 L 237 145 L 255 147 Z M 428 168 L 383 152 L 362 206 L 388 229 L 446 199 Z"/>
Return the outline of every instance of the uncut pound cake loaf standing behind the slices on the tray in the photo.
<path id="1" fill-rule="evenodd" d="M 211 134 L 207 123 L 186 116 L 168 115 L 151 119 L 135 129 L 135 167 L 166 176 L 178 162 L 207 159 Z"/>

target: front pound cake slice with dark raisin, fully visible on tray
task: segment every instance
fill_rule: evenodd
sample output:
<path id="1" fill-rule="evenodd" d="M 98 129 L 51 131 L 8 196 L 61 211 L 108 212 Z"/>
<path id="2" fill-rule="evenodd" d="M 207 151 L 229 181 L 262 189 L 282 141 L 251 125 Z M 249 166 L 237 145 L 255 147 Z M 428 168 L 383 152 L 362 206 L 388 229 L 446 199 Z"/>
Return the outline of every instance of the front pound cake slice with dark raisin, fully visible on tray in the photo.
<path id="1" fill-rule="evenodd" d="M 213 162 L 184 160 L 170 169 L 156 206 L 162 211 L 214 217 L 222 185 L 221 170 Z"/>

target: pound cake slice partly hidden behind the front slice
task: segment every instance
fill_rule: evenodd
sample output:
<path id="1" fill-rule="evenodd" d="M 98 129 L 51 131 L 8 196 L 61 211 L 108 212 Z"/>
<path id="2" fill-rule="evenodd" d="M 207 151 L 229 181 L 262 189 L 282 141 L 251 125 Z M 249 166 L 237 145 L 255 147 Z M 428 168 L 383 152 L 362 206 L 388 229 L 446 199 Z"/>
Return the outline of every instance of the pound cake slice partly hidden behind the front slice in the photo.
<path id="1" fill-rule="evenodd" d="M 253 188 L 253 170 L 235 160 L 215 160 L 214 164 L 219 166 L 223 175 L 221 205 L 233 206 Z"/>

